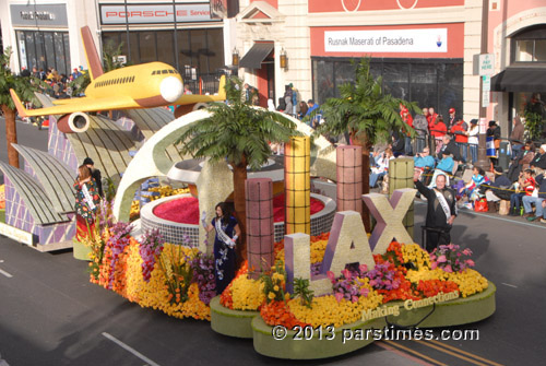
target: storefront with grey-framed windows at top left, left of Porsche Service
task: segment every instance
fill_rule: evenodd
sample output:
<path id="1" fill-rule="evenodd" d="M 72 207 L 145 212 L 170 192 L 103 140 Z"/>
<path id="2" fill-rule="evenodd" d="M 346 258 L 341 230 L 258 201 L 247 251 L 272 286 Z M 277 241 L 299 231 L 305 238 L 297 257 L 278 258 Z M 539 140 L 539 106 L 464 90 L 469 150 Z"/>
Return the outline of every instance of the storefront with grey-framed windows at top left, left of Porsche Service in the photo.
<path id="1" fill-rule="evenodd" d="M 71 70 L 66 4 L 10 4 L 21 69 Z M 15 49 L 15 47 L 14 47 Z"/>

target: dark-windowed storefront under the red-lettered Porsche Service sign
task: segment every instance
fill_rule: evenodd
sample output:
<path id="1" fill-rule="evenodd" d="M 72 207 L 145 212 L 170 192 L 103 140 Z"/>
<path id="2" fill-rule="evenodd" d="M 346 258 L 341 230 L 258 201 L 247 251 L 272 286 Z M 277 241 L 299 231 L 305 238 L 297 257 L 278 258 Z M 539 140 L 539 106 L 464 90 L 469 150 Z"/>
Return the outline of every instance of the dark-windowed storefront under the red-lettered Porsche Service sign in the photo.
<path id="1" fill-rule="evenodd" d="M 176 67 L 198 91 L 199 80 L 217 76 L 225 66 L 223 21 L 210 3 L 99 4 L 105 49 L 121 46 L 129 63 L 162 61 Z M 176 23 L 175 16 L 176 13 Z"/>

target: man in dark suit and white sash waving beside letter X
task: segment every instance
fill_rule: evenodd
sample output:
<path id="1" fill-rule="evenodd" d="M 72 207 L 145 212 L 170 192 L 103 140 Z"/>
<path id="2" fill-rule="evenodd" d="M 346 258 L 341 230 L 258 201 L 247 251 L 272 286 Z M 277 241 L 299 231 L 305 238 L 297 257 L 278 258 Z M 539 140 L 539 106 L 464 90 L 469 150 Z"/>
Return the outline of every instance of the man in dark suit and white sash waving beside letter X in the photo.
<path id="1" fill-rule="evenodd" d="M 455 192 L 446 187 L 443 174 L 436 177 L 436 187 L 432 189 L 419 181 L 419 174 L 414 174 L 413 181 L 419 193 L 427 198 L 426 249 L 432 252 L 438 246 L 451 243 L 451 226 L 458 214 Z"/>

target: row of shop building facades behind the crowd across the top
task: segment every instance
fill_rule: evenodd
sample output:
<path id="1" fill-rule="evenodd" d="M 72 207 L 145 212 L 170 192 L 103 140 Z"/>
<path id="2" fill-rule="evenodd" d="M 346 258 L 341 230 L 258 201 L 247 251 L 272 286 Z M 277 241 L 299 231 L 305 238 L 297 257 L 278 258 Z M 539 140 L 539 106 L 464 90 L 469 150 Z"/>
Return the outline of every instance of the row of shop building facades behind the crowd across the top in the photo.
<path id="1" fill-rule="evenodd" d="M 370 57 L 385 91 L 470 120 L 479 113 L 484 3 L 494 60 L 487 118 L 508 135 L 511 119 L 546 93 L 544 0 L 8 0 L 0 23 L 13 70 L 85 67 L 79 29 L 88 25 L 100 49 L 173 64 L 188 83 L 235 70 L 262 106 L 290 83 L 299 101 L 322 104 L 352 81 L 353 60 Z"/>

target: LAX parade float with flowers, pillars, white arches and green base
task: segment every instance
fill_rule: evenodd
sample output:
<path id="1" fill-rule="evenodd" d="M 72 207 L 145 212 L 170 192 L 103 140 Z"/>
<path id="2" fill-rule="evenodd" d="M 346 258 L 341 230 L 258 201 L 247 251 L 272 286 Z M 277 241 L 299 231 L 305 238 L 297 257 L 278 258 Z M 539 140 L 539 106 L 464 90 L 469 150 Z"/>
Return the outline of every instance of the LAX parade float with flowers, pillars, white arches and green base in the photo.
<path id="1" fill-rule="evenodd" d="M 164 69 L 168 75 L 169 69 Z M 134 81 L 134 75 L 126 75 L 133 69 L 123 70 L 104 75 L 92 70 L 93 80 L 97 85 L 110 76 Z M 171 75 L 178 78 L 175 70 Z M 109 92 L 112 99 L 120 94 L 115 86 Z M 91 102 L 95 110 L 105 109 L 100 101 Z M 106 109 L 133 107 L 143 106 L 131 102 Z M 429 255 L 413 243 L 412 160 L 396 160 L 405 165 L 401 174 L 389 168 L 389 197 L 363 196 L 361 147 L 335 149 L 318 137 L 311 149 L 311 129 L 284 116 L 300 135 L 285 145 L 281 177 L 249 176 L 245 181 L 248 261 L 216 294 L 212 236 L 194 222 L 188 229 L 177 227 L 168 212 L 158 217 L 158 205 L 171 197 L 142 208 L 134 204 L 135 193 L 150 179 L 175 179 L 189 186 L 191 204 L 211 222 L 215 204 L 240 188 L 234 187 L 235 167 L 226 162 L 204 161 L 198 170 L 182 172 L 188 158 L 175 143 L 211 111 L 173 120 L 164 108 L 128 109 L 124 119 L 112 121 L 82 114 L 78 101 L 63 108 L 69 107 L 44 109 L 62 115 L 50 119 L 48 154 L 15 146 L 25 158 L 24 170 L 0 164 L 7 185 L 7 225 L 0 228 L 40 250 L 71 246 L 72 172 L 90 156 L 119 185 L 114 204 L 103 202 L 95 231 L 79 245 L 86 251 L 91 282 L 129 302 L 175 318 L 209 320 L 218 333 L 252 339 L 260 354 L 292 359 L 349 353 L 379 339 L 370 334 L 382 329 L 460 326 L 495 312 L 496 287 L 472 269 L 468 248 L 451 244 Z M 28 113 L 21 103 L 17 109 Z M 324 200 L 316 214 L 325 214 L 314 220 L 311 176 L 335 181 L 336 187 L 335 202 Z M 275 229 L 273 202 L 280 192 L 284 223 Z M 376 221 L 371 233 L 363 224 L 363 204 Z M 136 208 L 141 219 L 131 223 Z M 159 221 L 165 217 L 168 223 Z M 281 232 L 281 240 L 275 232 Z"/>

